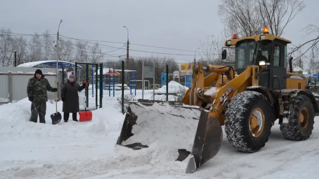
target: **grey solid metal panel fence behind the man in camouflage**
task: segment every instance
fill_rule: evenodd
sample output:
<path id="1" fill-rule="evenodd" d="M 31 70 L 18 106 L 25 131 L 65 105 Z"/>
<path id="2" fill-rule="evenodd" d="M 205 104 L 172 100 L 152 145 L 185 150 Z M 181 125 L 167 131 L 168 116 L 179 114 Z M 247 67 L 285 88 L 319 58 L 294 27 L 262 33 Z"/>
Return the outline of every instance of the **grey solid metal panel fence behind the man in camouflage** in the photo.
<path id="1" fill-rule="evenodd" d="M 0 67 L 0 103 L 14 102 L 27 97 L 26 85 L 34 76 L 38 68 L 26 67 Z M 54 87 L 56 71 L 49 68 L 41 68 L 45 78 Z M 56 98 L 54 92 L 48 91 L 48 98 Z"/>

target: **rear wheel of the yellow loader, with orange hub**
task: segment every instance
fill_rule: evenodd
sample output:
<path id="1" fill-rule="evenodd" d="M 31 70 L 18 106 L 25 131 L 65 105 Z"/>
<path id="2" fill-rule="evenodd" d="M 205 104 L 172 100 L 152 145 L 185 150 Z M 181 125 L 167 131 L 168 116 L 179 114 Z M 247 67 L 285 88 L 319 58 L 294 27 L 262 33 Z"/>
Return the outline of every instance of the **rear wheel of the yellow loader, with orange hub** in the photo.
<path id="1" fill-rule="evenodd" d="M 288 124 L 280 125 L 283 137 L 294 141 L 308 139 L 315 123 L 315 109 L 310 98 L 301 94 L 292 97 L 289 112 Z"/>

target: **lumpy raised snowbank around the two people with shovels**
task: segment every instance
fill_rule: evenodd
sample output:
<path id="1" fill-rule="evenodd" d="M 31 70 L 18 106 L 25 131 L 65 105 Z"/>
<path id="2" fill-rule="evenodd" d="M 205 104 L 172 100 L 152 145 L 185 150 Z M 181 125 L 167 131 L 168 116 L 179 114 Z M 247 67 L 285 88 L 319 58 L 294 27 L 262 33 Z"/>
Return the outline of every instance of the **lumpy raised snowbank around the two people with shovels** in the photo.
<path id="1" fill-rule="evenodd" d="M 52 121 L 50 115 L 55 113 L 55 103 L 46 102 L 46 124 L 29 122 L 31 116 L 31 102 L 27 99 L 21 99 L 16 103 L 7 103 L 0 106 L 0 129 L 1 132 L 8 132 L 15 128 L 26 133 L 41 133 L 42 131 L 52 132 L 52 136 L 60 136 L 60 133 L 56 133 L 56 129 L 52 127 Z M 69 117 L 69 122 L 64 123 L 63 112 L 62 112 L 62 101 L 57 102 L 58 112 L 62 115 L 60 123 L 54 127 L 59 129 L 65 129 L 71 132 L 71 135 L 75 135 L 77 132 L 110 132 L 118 131 L 121 128 L 121 122 L 123 121 L 124 115 L 114 110 L 112 107 L 99 108 L 92 111 L 92 121 L 78 122 L 72 121 L 72 115 Z M 77 119 L 79 119 L 77 114 Z M 8 127 L 11 126 L 11 127 Z M 26 130 L 27 129 L 27 130 Z M 34 130 L 29 130 L 34 129 Z"/>

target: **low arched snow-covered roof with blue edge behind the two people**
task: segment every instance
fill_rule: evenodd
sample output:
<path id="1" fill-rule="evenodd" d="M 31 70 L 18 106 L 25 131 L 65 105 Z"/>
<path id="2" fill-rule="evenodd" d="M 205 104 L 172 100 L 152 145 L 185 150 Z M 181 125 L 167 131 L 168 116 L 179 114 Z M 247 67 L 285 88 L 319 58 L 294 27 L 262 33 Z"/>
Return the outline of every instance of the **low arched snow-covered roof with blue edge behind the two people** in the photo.
<path id="1" fill-rule="evenodd" d="M 79 69 L 82 69 L 81 66 L 77 65 Z M 36 62 L 28 62 L 20 64 L 16 67 L 37 67 L 37 68 L 56 68 L 56 60 L 44 60 Z M 75 68 L 75 64 L 66 61 L 58 61 L 58 68 Z"/>

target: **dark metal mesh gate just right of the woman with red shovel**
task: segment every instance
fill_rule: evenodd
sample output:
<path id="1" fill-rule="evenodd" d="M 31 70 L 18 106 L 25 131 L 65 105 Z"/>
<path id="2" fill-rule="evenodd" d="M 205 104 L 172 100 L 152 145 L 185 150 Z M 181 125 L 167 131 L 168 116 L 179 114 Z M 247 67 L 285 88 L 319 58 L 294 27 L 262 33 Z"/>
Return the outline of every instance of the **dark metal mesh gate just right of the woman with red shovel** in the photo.
<path id="1" fill-rule="evenodd" d="M 83 69 L 78 72 L 77 65 L 79 64 L 83 66 Z M 101 92 L 101 86 L 98 84 L 98 64 L 75 62 L 75 81 L 79 85 L 82 85 L 84 81 L 87 82 L 87 88 L 79 91 L 80 111 L 97 109 L 99 106 L 98 93 Z"/>

